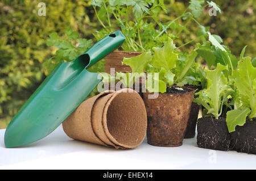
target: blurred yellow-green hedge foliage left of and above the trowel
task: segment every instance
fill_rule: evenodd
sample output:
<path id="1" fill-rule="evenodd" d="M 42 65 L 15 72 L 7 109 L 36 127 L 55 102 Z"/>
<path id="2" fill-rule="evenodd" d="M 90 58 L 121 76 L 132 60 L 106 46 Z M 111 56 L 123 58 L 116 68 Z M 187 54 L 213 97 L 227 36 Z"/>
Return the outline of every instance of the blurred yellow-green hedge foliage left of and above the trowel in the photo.
<path id="1" fill-rule="evenodd" d="M 39 16 L 40 1 L 0 2 L 0 128 L 5 128 L 44 79 L 42 65 L 56 49 L 46 40 L 67 28 L 91 35 L 89 1 L 44 1 L 46 16 Z"/>

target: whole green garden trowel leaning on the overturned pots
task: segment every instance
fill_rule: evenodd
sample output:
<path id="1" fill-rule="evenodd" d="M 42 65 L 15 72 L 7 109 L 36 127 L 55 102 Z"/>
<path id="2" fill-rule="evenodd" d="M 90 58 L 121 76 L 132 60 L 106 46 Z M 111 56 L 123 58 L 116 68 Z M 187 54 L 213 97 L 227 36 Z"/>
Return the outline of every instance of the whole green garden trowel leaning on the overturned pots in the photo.
<path id="1" fill-rule="evenodd" d="M 125 41 L 121 31 L 104 37 L 71 62 L 60 62 L 11 120 L 6 148 L 38 141 L 54 131 L 101 81 L 86 69 Z"/>

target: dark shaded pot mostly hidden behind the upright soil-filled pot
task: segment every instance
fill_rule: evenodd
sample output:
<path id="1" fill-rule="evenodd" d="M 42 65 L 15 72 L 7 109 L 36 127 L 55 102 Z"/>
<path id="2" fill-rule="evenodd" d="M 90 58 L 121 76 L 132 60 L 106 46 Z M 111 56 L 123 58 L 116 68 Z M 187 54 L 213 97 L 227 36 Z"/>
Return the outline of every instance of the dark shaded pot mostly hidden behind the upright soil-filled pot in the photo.
<path id="1" fill-rule="evenodd" d="M 184 87 L 196 90 L 196 92 L 199 92 L 202 87 L 201 86 L 193 86 L 193 85 L 185 85 Z M 192 102 L 191 103 L 191 110 L 189 113 L 189 119 L 188 124 L 185 132 L 184 138 L 193 138 L 196 135 L 196 122 L 197 117 L 199 113 L 200 106 L 197 103 Z"/>

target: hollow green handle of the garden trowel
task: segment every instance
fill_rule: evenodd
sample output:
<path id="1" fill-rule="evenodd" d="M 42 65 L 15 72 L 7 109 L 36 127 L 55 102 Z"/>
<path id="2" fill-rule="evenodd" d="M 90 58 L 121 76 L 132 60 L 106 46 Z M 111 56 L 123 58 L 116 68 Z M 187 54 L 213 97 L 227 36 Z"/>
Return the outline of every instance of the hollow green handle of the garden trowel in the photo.
<path id="1" fill-rule="evenodd" d="M 125 36 L 121 31 L 115 31 L 110 35 L 104 37 L 96 44 L 94 44 L 90 49 L 88 49 L 85 54 L 88 54 L 90 57 L 89 65 L 86 68 L 89 68 L 97 61 L 101 60 L 109 53 L 113 52 L 119 45 L 125 41 Z"/>

